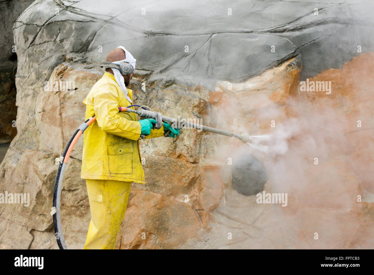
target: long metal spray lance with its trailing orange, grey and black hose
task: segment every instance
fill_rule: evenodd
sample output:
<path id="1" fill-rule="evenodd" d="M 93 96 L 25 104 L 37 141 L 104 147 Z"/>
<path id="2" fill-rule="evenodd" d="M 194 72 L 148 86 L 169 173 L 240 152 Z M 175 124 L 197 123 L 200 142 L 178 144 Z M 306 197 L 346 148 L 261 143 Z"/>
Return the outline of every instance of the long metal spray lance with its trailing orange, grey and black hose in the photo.
<path id="1" fill-rule="evenodd" d="M 147 110 L 144 107 L 143 109 L 134 110 L 130 107 L 132 106 L 138 106 L 139 105 L 131 105 L 128 107 L 119 107 L 120 112 L 132 112 L 138 114 L 138 116 L 143 118 L 151 118 L 156 120 L 156 124 L 154 125 L 155 129 L 160 129 L 163 125 L 163 122 L 171 123 L 171 126 L 173 128 L 175 125 L 186 125 L 189 128 L 197 128 L 202 129 L 206 132 L 212 132 L 220 135 L 226 135 L 228 137 L 236 137 L 243 143 L 247 143 L 249 141 L 249 135 L 247 133 L 243 134 L 234 134 L 232 132 L 223 131 L 220 129 L 215 129 L 212 127 L 199 125 L 196 123 L 188 122 L 186 119 L 182 119 L 181 117 L 178 117 L 178 119 L 163 116 L 161 113 Z M 60 158 L 57 158 L 58 160 L 58 169 L 55 177 L 55 184 L 54 184 L 54 190 L 53 190 L 53 207 L 51 209 L 51 216 L 53 216 L 53 229 L 55 231 L 55 239 L 57 241 L 58 247 L 60 249 L 67 249 L 65 239 L 64 239 L 64 233 L 62 232 L 62 224 L 61 224 L 61 213 L 60 213 L 60 199 L 61 199 L 61 190 L 62 190 L 62 180 L 64 178 L 65 169 L 68 163 L 68 160 L 70 158 L 71 152 L 73 151 L 74 145 L 77 143 L 79 137 L 83 134 L 83 132 L 88 128 L 89 125 L 91 125 L 96 120 L 96 117 L 90 117 L 85 122 L 83 122 L 78 129 L 74 132 L 74 134 L 69 139 L 67 145 L 65 146 L 64 152 L 62 153 L 62 156 Z M 169 133 L 166 132 L 165 136 L 168 136 Z M 145 138 L 144 135 L 141 135 L 140 138 Z"/>

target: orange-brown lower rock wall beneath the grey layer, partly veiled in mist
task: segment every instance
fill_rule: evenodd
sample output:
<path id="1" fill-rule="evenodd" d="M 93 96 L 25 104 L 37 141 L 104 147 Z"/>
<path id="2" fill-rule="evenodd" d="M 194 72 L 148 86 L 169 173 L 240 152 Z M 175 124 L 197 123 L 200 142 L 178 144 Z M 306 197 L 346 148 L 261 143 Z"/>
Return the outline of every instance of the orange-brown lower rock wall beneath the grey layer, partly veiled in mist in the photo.
<path id="1" fill-rule="evenodd" d="M 168 116 L 202 118 L 203 124 L 227 131 L 270 134 L 271 139 L 266 150 L 258 150 L 233 137 L 183 129 L 179 138 L 142 141 L 148 184 L 132 187 L 116 247 L 371 248 L 373 66 L 374 54 L 362 54 L 342 69 L 309 79 L 331 81 L 330 95 L 301 92 L 296 85 L 300 64 L 294 59 L 247 82 L 232 83 L 231 90 L 226 82 L 217 83 L 215 91 L 152 82 L 143 92 L 141 82 L 148 76 L 135 76 L 136 103 Z M 100 77 L 93 67 L 57 66 L 50 78 L 74 80 L 77 89 L 47 92 L 41 85 L 34 114 L 19 109 L 18 115 L 28 120 L 20 120 L 25 132 L 15 137 L 1 165 L 0 187 L 9 192 L 22 187 L 32 199 L 27 210 L 0 205 L 0 248 L 57 248 L 49 216 L 54 160 L 83 120 L 81 102 Z M 230 163 L 246 151 L 266 166 L 264 190 L 288 193 L 286 207 L 258 204 L 256 196 L 233 189 Z M 81 154 L 82 141 L 68 164 L 61 198 L 70 248 L 83 247 L 90 219 L 85 183 L 79 178 Z"/>

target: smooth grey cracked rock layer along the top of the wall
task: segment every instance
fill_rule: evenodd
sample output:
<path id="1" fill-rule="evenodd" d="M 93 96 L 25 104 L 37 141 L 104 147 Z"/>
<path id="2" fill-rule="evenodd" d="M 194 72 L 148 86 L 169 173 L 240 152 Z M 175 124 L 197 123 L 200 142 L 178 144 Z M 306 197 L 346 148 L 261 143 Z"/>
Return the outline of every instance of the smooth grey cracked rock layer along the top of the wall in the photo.
<path id="1" fill-rule="evenodd" d="M 42 0 L 18 19 L 15 36 L 21 54 L 32 53 L 43 67 L 66 58 L 98 62 L 123 45 L 137 68 L 154 77 L 237 82 L 301 52 L 305 78 L 341 67 L 359 54 L 359 45 L 373 51 L 367 12 L 373 9 L 372 2 L 355 0 Z"/>

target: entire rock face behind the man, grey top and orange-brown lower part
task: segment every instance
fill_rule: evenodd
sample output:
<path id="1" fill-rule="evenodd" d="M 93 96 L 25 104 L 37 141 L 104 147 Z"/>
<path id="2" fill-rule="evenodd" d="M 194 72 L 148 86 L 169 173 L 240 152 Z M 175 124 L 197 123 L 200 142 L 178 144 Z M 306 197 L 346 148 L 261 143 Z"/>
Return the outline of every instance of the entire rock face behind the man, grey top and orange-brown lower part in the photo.
<path id="1" fill-rule="evenodd" d="M 335 104 L 350 115 L 372 103 L 370 97 L 353 96 L 370 87 L 372 54 L 351 61 L 365 72 L 360 82 L 352 77 L 355 71 L 345 69 L 351 62 L 343 64 L 360 54 L 358 46 L 364 53 L 374 51 L 368 12 L 373 7 L 353 0 L 187 1 L 175 6 L 170 1 L 34 1 L 13 27 L 18 134 L 0 166 L 0 190 L 30 193 L 30 206 L 0 204 L 0 248 L 57 248 L 49 215 L 55 158 L 82 122 L 82 101 L 101 77 L 98 62 L 111 49 L 123 45 L 137 59 L 129 87 L 136 104 L 171 117 L 199 118 L 227 131 L 264 134 L 272 131 L 270 120 L 303 122 L 300 104 L 321 109 Z M 371 65 L 357 67 L 358 58 Z M 347 94 L 321 99 L 300 94 L 299 78 L 311 76 L 335 79 Z M 74 81 L 76 90 L 45 91 L 48 80 Z M 352 134 L 358 135 L 354 140 L 361 134 Z M 301 137 L 291 141 L 298 145 Z M 289 166 L 313 154 L 261 155 L 234 138 L 196 129 L 182 130 L 175 140 L 142 141 L 147 184 L 132 188 L 116 247 L 368 248 L 373 245 L 367 238 L 373 235 L 372 177 L 358 164 L 373 154 L 362 151 L 358 142 L 349 148 L 354 170 L 347 170 L 344 146 L 324 144 L 331 151 L 324 151 L 322 159 L 330 166 L 313 166 L 319 168 L 313 172 Z M 255 196 L 233 189 L 228 158 L 240 161 L 239 153 L 246 150 L 269 173 L 265 190 L 289 192 L 291 207 L 257 204 Z M 90 219 L 85 182 L 79 177 L 81 156 L 82 140 L 71 155 L 61 198 L 69 248 L 83 247 Z M 284 176 L 289 171 L 304 179 L 301 185 L 294 184 L 295 173 L 295 178 Z M 346 203 L 319 200 L 321 192 L 334 197 L 330 181 L 317 176 L 329 173 L 342 182 L 338 194 Z M 300 188 L 313 184 L 317 191 Z M 355 204 L 359 192 L 366 201 Z M 303 204 L 306 193 L 310 201 Z M 322 234 L 321 242 L 314 242 L 314 232 Z"/>

